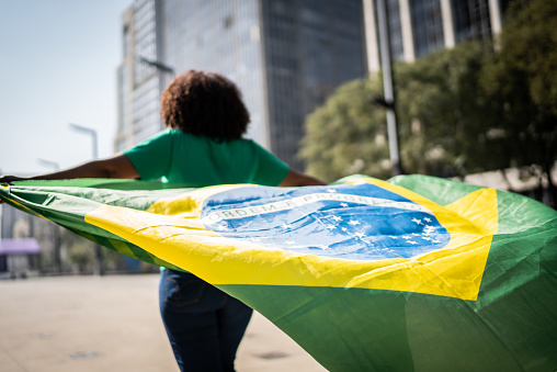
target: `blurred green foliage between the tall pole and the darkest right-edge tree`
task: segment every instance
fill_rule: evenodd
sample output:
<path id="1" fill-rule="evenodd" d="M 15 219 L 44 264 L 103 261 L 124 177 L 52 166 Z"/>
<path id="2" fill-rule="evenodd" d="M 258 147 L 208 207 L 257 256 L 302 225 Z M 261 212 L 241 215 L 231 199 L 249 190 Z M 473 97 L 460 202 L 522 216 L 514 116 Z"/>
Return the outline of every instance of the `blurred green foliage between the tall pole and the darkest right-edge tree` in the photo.
<path id="1" fill-rule="evenodd" d="M 484 154 L 489 128 L 479 87 L 484 56 L 482 46 L 470 42 L 396 66 L 401 158 L 408 172 L 465 176 L 504 162 Z"/>

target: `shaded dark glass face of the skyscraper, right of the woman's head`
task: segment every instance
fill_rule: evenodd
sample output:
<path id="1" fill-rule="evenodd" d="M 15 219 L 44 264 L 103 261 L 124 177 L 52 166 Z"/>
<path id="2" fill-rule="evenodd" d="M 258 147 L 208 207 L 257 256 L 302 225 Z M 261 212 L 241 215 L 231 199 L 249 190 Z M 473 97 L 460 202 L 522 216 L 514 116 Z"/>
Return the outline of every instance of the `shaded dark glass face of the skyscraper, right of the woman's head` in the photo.
<path id="1" fill-rule="evenodd" d="M 271 149 L 291 165 L 307 114 L 366 72 L 360 0 L 261 1 Z"/>

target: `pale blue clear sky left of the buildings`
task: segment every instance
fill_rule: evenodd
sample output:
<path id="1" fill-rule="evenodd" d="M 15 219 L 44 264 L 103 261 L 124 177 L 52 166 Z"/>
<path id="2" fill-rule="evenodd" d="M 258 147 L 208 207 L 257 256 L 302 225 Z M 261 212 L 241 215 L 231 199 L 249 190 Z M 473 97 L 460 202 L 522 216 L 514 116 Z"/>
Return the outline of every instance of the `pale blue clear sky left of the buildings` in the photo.
<path id="1" fill-rule="evenodd" d="M 0 0 L 0 174 L 112 155 L 121 18 L 133 0 Z M 46 161 L 43 161 L 43 160 Z M 55 165 L 56 164 L 56 165 Z"/>

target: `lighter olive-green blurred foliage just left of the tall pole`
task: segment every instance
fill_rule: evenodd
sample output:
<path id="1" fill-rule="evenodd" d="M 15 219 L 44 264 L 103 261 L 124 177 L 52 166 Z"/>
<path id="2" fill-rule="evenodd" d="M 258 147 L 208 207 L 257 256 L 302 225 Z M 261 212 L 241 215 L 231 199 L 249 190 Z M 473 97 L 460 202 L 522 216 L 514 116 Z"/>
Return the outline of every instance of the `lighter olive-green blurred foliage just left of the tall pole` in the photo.
<path id="1" fill-rule="evenodd" d="M 299 156 L 307 171 L 327 181 L 348 174 L 389 174 L 385 112 L 372 105 L 380 95 L 377 78 L 349 82 L 306 121 Z"/>

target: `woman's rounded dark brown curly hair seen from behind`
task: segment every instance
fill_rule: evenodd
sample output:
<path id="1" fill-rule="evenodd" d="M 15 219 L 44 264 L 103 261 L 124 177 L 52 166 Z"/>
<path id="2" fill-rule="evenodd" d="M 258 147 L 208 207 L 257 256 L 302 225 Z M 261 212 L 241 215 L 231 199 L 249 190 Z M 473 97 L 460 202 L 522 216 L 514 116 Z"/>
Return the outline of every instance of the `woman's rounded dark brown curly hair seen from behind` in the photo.
<path id="1" fill-rule="evenodd" d="M 250 122 L 238 87 L 215 72 L 178 76 L 162 92 L 160 106 L 167 126 L 217 140 L 240 138 Z"/>

